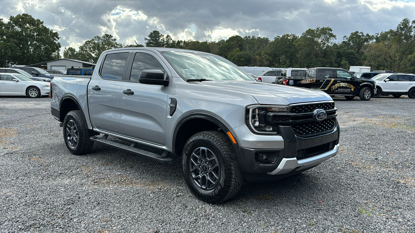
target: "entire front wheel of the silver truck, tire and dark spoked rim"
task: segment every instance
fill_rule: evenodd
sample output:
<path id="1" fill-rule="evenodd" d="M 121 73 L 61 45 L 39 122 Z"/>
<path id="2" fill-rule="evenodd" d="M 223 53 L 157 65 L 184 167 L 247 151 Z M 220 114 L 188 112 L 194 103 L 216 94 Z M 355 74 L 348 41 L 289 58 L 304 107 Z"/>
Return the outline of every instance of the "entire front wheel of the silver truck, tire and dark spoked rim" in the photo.
<path id="1" fill-rule="evenodd" d="M 202 201 L 226 201 L 242 185 L 235 150 L 225 133 L 205 131 L 190 137 L 183 149 L 182 165 L 188 187 Z"/>

